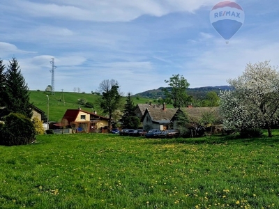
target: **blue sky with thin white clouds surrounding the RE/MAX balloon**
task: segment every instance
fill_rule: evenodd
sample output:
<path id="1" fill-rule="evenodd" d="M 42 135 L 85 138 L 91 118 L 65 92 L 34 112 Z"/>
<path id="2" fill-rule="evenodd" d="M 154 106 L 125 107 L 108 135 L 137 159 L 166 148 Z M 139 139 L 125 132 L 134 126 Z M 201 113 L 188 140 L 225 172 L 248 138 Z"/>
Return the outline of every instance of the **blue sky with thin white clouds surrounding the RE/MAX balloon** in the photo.
<path id="1" fill-rule="evenodd" d="M 244 24 L 229 40 L 209 20 L 214 0 L 1 0 L 0 58 L 20 63 L 30 90 L 96 91 L 116 79 L 126 94 L 167 86 L 227 85 L 247 63 L 279 65 L 278 0 L 235 1 Z"/>

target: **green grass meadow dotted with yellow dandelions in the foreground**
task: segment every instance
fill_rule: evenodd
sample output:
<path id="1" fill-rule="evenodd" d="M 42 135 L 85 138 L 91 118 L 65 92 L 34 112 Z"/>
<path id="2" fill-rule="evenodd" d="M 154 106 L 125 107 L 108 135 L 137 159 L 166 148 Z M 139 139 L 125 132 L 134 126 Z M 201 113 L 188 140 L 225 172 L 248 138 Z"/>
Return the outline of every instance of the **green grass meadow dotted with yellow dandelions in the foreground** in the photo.
<path id="1" fill-rule="evenodd" d="M 279 208 L 274 134 L 54 134 L 28 146 L 0 146 L 0 208 Z"/>

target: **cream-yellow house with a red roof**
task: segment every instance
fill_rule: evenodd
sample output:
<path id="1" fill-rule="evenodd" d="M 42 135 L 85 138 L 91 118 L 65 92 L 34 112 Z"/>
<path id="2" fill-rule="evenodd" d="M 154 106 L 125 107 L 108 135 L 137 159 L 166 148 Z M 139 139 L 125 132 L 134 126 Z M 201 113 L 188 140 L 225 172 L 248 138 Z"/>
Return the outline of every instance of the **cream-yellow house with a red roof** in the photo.
<path id="1" fill-rule="evenodd" d="M 67 109 L 60 123 L 56 126 L 71 127 L 77 132 L 104 132 L 107 130 L 109 118 L 99 116 L 96 112 L 82 109 Z"/>

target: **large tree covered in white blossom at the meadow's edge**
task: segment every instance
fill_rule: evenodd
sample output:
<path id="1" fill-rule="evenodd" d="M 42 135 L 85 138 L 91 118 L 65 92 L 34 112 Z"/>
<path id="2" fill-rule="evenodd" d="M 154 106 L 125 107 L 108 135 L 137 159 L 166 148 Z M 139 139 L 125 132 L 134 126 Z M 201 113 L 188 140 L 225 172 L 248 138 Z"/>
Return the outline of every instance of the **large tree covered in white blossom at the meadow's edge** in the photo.
<path id="1" fill-rule="evenodd" d="M 244 130 L 271 125 L 279 116 L 279 72 L 269 61 L 248 63 L 243 75 L 229 79 L 233 91 L 220 92 L 220 111 L 227 129 Z"/>

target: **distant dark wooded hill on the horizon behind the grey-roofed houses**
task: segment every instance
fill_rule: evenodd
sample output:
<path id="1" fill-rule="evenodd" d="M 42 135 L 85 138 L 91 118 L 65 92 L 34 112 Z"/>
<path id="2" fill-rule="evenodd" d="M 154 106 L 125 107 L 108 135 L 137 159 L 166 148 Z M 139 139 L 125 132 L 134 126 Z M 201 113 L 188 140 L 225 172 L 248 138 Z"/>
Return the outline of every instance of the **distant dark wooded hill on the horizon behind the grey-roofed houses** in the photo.
<path id="1" fill-rule="evenodd" d="M 142 98 L 151 98 L 151 99 L 157 99 L 157 98 L 164 98 L 164 94 L 162 89 L 165 87 L 160 87 L 158 89 L 148 90 L 144 91 L 142 93 L 137 93 L 133 95 L 133 97 L 142 97 Z M 171 88 L 171 87 L 166 87 Z M 206 97 L 206 94 L 209 93 L 209 91 L 215 91 L 216 93 L 219 93 L 220 90 L 230 90 L 232 89 L 231 86 L 204 86 L 204 87 L 198 87 L 198 88 L 188 88 L 188 95 L 192 95 L 193 98 L 196 99 L 204 99 Z"/>

